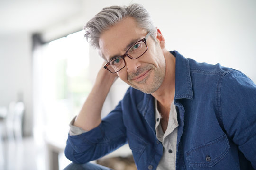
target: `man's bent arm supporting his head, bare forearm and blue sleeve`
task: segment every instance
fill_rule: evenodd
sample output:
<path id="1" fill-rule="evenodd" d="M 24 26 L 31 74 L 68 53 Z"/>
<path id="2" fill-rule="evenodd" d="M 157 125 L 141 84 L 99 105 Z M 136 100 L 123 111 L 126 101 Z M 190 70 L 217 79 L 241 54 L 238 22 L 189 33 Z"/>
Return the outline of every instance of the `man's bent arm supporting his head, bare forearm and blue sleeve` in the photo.
<path id="1" fill-rule="evenodd" d="M 116 78 L 104 69 L 98 72 L 91 93 L 74 122 L 86 132 L 68 136 L 65 155 L 74 163 L 96 160 L 126 143 L 121 102 L 101 120 L 102 105 Z"/>

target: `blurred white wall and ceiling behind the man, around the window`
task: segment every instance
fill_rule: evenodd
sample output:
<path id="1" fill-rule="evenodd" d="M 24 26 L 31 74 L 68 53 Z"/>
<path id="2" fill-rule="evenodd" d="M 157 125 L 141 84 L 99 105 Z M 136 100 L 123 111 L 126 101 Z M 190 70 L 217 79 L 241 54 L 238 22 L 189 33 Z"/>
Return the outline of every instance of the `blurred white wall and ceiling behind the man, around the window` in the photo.
<path id="1" fill-rule="evenodd" d="M 256 82 L 256 0 L 1 0 L 0 106 L 24 101 L 25 135 L 33 129 L 32 35 L 50 42 L 82 30 L 106 6 L 130 3 L 148 9 L 168 50 L 236 68 Z M 89 53 L 93 81 L 103 60 Z"/>

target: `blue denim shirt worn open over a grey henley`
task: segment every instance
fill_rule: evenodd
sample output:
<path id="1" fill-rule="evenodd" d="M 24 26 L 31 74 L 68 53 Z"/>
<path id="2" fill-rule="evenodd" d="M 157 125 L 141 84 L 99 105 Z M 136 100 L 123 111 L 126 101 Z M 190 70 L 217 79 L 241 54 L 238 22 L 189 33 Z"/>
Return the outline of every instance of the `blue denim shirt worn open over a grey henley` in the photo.
<path id="1" fill-rule="evenodd" d="M 256 169 L 256 85 L 240 71 L 171 53 L 179 122 L 176 170 Z M 155 136 L 154 98 L 131 87 L 98 127 L 68 137 L 65 154 L 85 163 L 127 142 L 138 170 L 156 169 L 163 145 Z"/>

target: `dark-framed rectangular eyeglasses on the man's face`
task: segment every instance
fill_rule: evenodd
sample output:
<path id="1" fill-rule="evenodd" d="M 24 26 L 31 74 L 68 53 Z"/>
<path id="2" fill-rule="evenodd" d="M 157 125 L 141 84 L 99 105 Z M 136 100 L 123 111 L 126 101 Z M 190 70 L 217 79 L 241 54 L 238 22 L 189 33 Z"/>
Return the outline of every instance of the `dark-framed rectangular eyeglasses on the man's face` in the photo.
<path id="1" fill-rule="evenodd" d="M 130 59 L 137 59 L 141 57 L 147 51 L 146 40 L 149 35 L 150 32 L 146 34 L 145 38 L 139 40 L 128 48 L 124 55 L 111 59 L 103 66 L 103 68 L 109 70 L 111 73 L 116 73 L 125 67 L 126 63 L 124 58 L 126 56 Z"/>

